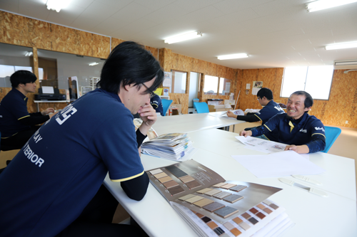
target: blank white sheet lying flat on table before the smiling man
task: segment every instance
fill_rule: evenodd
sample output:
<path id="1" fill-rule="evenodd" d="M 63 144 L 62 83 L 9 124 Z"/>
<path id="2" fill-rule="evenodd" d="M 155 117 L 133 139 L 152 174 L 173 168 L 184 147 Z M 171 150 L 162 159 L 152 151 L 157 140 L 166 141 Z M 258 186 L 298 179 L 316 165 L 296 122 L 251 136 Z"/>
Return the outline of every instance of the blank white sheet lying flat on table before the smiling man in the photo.
<path id="1" fill-rule="evenodd" d="M 326 171 L 293 151 L 231 157 L 258 178 L 284 177 L 293 174 L 312 175 Z"/>

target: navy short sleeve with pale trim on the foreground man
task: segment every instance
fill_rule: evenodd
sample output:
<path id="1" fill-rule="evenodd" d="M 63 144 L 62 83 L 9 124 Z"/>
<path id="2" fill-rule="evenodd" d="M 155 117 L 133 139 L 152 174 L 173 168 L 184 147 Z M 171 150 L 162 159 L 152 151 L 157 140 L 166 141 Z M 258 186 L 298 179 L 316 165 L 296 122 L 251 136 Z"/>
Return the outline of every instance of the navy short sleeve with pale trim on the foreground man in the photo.
<path id="1" fill-rule="evenodd" d="M 89 150 L 103 159 L 111 181 L 127 181 L 144 174 L 136 139 L 129 111 L 114 111 L 96 127 Z"/>

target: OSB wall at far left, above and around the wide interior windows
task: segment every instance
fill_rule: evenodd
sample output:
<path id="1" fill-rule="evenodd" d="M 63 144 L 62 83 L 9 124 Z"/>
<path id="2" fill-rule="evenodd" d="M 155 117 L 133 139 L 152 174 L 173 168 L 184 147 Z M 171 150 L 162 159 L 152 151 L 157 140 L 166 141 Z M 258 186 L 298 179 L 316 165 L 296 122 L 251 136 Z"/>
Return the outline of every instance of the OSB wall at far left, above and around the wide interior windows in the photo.
<path id="1" fill-rule="evenodd" d="M 96 58 L 106 58 L 110 52 L 109 37 L 29 19 L 4 11 L 0 11 L 0 27 L 2 32 L 0 35 L 1 43 L 11 43 L 17 46 L 33 48 L 34 73 L 37 77 L 39 76 L 37 75 L 37 48 Z M 37 80 L 36 83 L 37 88 L 39 88 L 39 81 Z M 4 98 L 7 90 L 11 90 L 11 88 L 0 90 L 0 99 Z M 34 103 L 33 93 L 29 93 L 27 97 L 29 98 L 29 112 L 36 112 L 37 107 Z M 66 103 L 42 103 L 39 105 L 40 110 L 46 109 L 47 105 L 61 109 L 66 106 Z"/>

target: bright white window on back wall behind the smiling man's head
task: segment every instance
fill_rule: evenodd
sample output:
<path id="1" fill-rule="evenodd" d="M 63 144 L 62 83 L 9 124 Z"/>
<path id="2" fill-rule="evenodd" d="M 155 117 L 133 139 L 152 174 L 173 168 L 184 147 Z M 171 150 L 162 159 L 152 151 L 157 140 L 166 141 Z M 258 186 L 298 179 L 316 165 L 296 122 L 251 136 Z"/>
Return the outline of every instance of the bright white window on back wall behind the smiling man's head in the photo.
<path id="1" fill-rule="evenodd" d="M 328 100 L 333 78 L 333 65 L 287 67 L 284 69 L 281 97 L 288 98 L 305 90 L 313 99 Z"/>

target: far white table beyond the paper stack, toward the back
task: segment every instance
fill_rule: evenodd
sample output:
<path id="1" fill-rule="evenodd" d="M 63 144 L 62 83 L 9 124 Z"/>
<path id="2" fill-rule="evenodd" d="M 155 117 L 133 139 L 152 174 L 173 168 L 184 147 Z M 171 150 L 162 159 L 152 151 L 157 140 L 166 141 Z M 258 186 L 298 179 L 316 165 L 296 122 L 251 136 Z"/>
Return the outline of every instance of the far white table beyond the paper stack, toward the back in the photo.
<path id="1" fill-rule="evenodd" d="M 154 124 L 154 130 L 158 135 L 171 132 L 193 132 L 198 130 L 207 130 L 211 128 L 227 127 L 236 125 L 245 121 L 236 120 L 231 117 L 215 117 L 221 112 L 210 112 L 201 114 L 174 115 L 158 117 Z"/>

